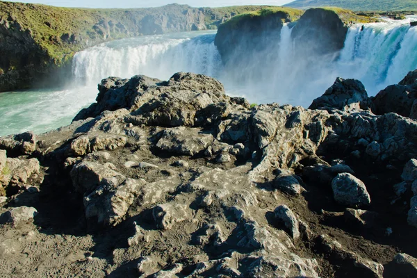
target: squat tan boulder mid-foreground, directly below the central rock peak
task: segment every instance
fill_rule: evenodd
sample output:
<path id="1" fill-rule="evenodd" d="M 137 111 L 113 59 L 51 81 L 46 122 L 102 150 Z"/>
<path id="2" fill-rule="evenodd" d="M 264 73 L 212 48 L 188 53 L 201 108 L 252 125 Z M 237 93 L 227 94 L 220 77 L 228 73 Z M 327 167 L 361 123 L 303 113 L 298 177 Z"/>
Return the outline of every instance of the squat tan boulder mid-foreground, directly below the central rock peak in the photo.
<path id="1" fill-rule="evenodd" d="M 194 156 L 204 151 L 214 138 L 211 134 L 202 133 L 200 129 L 178 128 L 165 129 L 156 147 L 172 154 Z"/>

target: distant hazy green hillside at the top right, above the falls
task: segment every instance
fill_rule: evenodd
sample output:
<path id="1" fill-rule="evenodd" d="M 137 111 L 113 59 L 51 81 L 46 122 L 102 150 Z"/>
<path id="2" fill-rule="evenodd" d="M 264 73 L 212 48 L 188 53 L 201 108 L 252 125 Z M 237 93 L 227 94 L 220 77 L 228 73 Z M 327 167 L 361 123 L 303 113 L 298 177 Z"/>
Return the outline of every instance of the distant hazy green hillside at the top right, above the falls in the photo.
<path id="1" fill-rule="evenodd" d="M 332 6 L 360 11 L 417 11 L 416 0 L 296 0 L 284 6 L 302 9 Z"/>

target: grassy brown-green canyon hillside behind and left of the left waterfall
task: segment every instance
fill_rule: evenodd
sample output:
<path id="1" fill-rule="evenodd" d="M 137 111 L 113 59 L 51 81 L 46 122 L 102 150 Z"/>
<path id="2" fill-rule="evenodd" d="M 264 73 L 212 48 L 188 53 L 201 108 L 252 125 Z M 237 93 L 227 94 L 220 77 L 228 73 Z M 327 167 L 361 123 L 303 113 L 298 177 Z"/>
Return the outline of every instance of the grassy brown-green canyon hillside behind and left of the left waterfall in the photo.
<path id="1" fill-rule="evenodd" d="M 0 92 L 30 88 L 74 53 L 120 38 L 217 28 L 263 6 L 193 8 L 58 8 L 0 1 Z M 55 71 L 55 70 L 54 70 Z"/>

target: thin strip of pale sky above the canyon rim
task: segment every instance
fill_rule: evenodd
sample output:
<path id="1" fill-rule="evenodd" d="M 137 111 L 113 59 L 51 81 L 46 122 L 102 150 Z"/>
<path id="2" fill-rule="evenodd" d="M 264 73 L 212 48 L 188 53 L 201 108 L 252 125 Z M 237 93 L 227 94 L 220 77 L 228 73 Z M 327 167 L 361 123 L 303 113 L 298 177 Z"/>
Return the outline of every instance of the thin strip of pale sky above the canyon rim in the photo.
<path id="1" fill-rule="evenodd" d="M 148 8 L 164 6 L 170 3 L 188 4 L 193 7 L 222 7 L 241 5 L 281 6 L 292 0 L 8 0 L 10 2 L 41 3 L 60 7 L 79 8 Z"/>

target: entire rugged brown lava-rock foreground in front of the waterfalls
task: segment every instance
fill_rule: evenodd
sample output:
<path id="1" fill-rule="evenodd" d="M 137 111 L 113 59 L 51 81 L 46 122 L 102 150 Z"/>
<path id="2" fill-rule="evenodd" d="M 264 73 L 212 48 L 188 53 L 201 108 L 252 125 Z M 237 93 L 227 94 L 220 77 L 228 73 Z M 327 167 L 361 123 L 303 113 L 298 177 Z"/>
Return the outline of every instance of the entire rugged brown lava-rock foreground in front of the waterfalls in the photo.
<path id="1" fill-rule="evenodd" d="M 0 276 L 416 277 L 416 79 L 309 109 L 104 79 L 70 126 L 0 138 Z"/>

